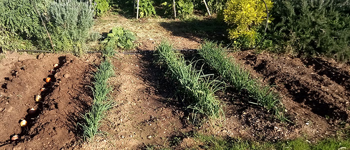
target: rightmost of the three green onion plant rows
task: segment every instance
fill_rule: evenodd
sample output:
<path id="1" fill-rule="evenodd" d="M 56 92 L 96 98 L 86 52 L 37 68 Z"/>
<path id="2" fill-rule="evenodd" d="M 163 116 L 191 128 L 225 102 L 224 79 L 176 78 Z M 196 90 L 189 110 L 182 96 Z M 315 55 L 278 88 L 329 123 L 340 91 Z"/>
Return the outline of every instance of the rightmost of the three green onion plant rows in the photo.
<path id="1" fill-rule="evenodd" d="M 258 104 L 267 111 L 272 111 L 280 121 L 286 121 L 284 106 L 279 95 L 270 90 L 270 86 L 262 86 L 258 81 L 250 78 L 249 72 L 242 69 L 231 57 L 227 57 L 224 50 L 216 43 L 205 41 L 198 50 L 202 59 L 214 69 L 225 82 L 236 90 L 247 91 Z"/>

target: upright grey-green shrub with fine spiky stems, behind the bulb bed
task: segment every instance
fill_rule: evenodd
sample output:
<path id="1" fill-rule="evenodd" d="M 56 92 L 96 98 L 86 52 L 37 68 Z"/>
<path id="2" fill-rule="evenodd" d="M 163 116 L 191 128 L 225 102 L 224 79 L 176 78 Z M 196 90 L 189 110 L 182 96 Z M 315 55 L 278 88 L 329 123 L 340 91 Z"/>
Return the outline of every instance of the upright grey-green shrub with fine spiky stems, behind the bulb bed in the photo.
<path id="1" fill-rule="evenodd" d="M 47 9 L 47 28 L 55 50 L 84 52 L 93 24 L 93 14 L 94 7 L 88 1 L 52 1 Z"/>

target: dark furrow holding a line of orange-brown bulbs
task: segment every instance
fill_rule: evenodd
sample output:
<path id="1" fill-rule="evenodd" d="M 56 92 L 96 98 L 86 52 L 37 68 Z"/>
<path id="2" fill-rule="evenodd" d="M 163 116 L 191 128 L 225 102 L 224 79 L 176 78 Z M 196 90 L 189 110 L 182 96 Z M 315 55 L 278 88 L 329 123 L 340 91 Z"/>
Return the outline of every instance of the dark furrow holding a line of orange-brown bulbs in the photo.
<path id="1" fill-rule="evenodd" d="M 18 142 L 24 140 L 21 139 L 21 137 L 28 135 L 29 129 L 35 124 L 38 115 L 43 109 L 43 101 L 45 99 L 45 96 L 47 96 L 53 90 L 52 87 L 53 83 L 55 82 L 54 75 L 60 66 L 58 64 L 53 64 L 52 67 L 53 69 L 48 71 L 49 75 L 43 79 L 45 84 L 42 88 L 38 90 L 38 94 L 34 95 L 33 97 L 36 106 L 27 109 L 27 115 L 25 115 L 22 119 L 18 121 L 18 124 L 21 128 L 21 132 L 15 133 L 12 136 L 10 136 L 10 139 L 8 141 Z"/>

